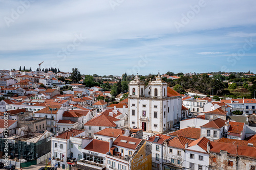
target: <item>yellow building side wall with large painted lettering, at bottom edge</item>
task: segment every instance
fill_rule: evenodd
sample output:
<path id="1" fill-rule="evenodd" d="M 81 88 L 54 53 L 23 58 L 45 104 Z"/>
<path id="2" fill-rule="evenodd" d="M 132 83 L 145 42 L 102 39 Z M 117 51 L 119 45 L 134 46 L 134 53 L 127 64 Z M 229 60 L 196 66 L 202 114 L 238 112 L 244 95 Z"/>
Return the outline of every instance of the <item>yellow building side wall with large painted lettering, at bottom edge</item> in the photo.
<path id="1" fill-rule="evenodd" d="M 146 142 L 144 142 L 132 160 L 131 170 L 151 170 L 151 168 L 152 155 L 146 156 Z"/>

